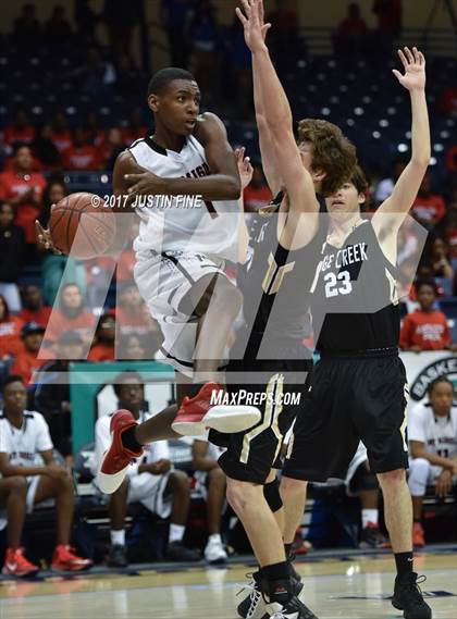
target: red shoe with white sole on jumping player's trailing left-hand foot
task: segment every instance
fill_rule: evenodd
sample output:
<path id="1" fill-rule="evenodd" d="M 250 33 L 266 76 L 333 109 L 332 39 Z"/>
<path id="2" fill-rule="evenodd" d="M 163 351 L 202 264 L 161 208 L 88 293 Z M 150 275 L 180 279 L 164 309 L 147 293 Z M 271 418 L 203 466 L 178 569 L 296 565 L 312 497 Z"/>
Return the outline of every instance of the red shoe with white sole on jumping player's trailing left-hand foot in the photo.
<path id="1" fill-rule="evenodd" d="M 97 473 L 97 485 L 106 494 L 112 494 L 119 488 L 131 462 L 143 455 L 143 448 L 135 453 L 122 444 L 122 435 L 134 425 L 137 423 L 129 410 L 118 410 L 111 418 L 111 446 L 104 453 Z"/>

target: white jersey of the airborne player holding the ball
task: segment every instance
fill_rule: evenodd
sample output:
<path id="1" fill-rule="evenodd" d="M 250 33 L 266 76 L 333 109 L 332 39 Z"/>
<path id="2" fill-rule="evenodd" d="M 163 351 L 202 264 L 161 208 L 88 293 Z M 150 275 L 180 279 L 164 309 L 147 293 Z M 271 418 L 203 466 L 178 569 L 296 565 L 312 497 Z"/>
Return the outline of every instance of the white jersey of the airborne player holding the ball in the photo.
<path id="1" fill-rule="evenodd" d="M 205 149 L 189 136 L 181 152 L 166 150 L 150 137 L 129 151 L 136 162 L 163 178 L 198 178 L 210 174 Z M 184 251 L 215 255 L 236 261 L 239 209 L 236 200 L 206 202 L 189 196 L 140 196 L 141 219 L 136 251 Z"/>

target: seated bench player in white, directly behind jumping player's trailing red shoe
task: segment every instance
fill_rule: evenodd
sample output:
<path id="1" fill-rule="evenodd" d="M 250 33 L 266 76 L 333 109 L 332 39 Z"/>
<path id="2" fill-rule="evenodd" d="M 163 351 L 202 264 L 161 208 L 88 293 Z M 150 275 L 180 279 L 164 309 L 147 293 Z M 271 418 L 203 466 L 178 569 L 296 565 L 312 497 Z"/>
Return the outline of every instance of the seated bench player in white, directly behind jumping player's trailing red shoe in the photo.
<path id="1" fill-rule="evenodd" d="M 126 408 L 140 422 L 152 414 L 145 406 L 145 388 L 137 372 L 124 372 L 113 385 L 119 407 Z M 111 443 L 111 416 L 100 417 L 96 423 L 96 462 L 99 462 Z M 95 472 L 95 471 L 94 471 Z M 183 544 L 190 506 L 190 479 L 183 471 L 171 469 L 166 441 L 145 446 L 145 455 L 128 468 L 121 487 L 110 495 L 111 550 L 109 565 L 125 567 L 125 513 L 128 503 L 141 503 L 160 518 L 171 519 L 166 558 L 174 561 L 195 561 L 199 553 Z"/>

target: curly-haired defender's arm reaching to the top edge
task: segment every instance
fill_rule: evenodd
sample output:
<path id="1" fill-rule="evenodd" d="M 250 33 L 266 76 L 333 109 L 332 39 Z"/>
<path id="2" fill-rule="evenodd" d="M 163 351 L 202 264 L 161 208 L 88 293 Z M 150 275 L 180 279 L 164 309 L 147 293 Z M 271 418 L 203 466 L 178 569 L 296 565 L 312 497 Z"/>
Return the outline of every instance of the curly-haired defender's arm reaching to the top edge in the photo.
<path id="1" fill-rule="evenodd" d="M 274 148 L 277 176 L 287 191 L 291 210 L 317 212 L 319 202 L 311 175 L 304 168 L 295 141 L 291 106 L 264 42 L 262 0 L 242 1 L 244 12 L 236 9 L 236 14 L 243 24 L 246 44 L 252 52 L 257 102 L 259 104 L 261 98 L 261 114 Z"/>

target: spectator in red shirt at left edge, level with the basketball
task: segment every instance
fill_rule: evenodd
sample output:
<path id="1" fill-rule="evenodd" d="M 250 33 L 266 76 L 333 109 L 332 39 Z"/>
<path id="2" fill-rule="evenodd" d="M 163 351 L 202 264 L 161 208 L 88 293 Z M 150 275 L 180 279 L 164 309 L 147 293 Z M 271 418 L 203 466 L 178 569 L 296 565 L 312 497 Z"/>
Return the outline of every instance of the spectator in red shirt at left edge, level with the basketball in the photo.
<path id="1" fill-rule="evenodd" d="M 27 244 L 27 259 L 35 257 L 35 220 L 41 211 L 45 177 L 32 171 L 32 151 L 18 146 L 14 154 L 13 170 L 0 174 L 0 199 L 8 200 L 15 209 L 15 224 L 23 228 Z"/>

